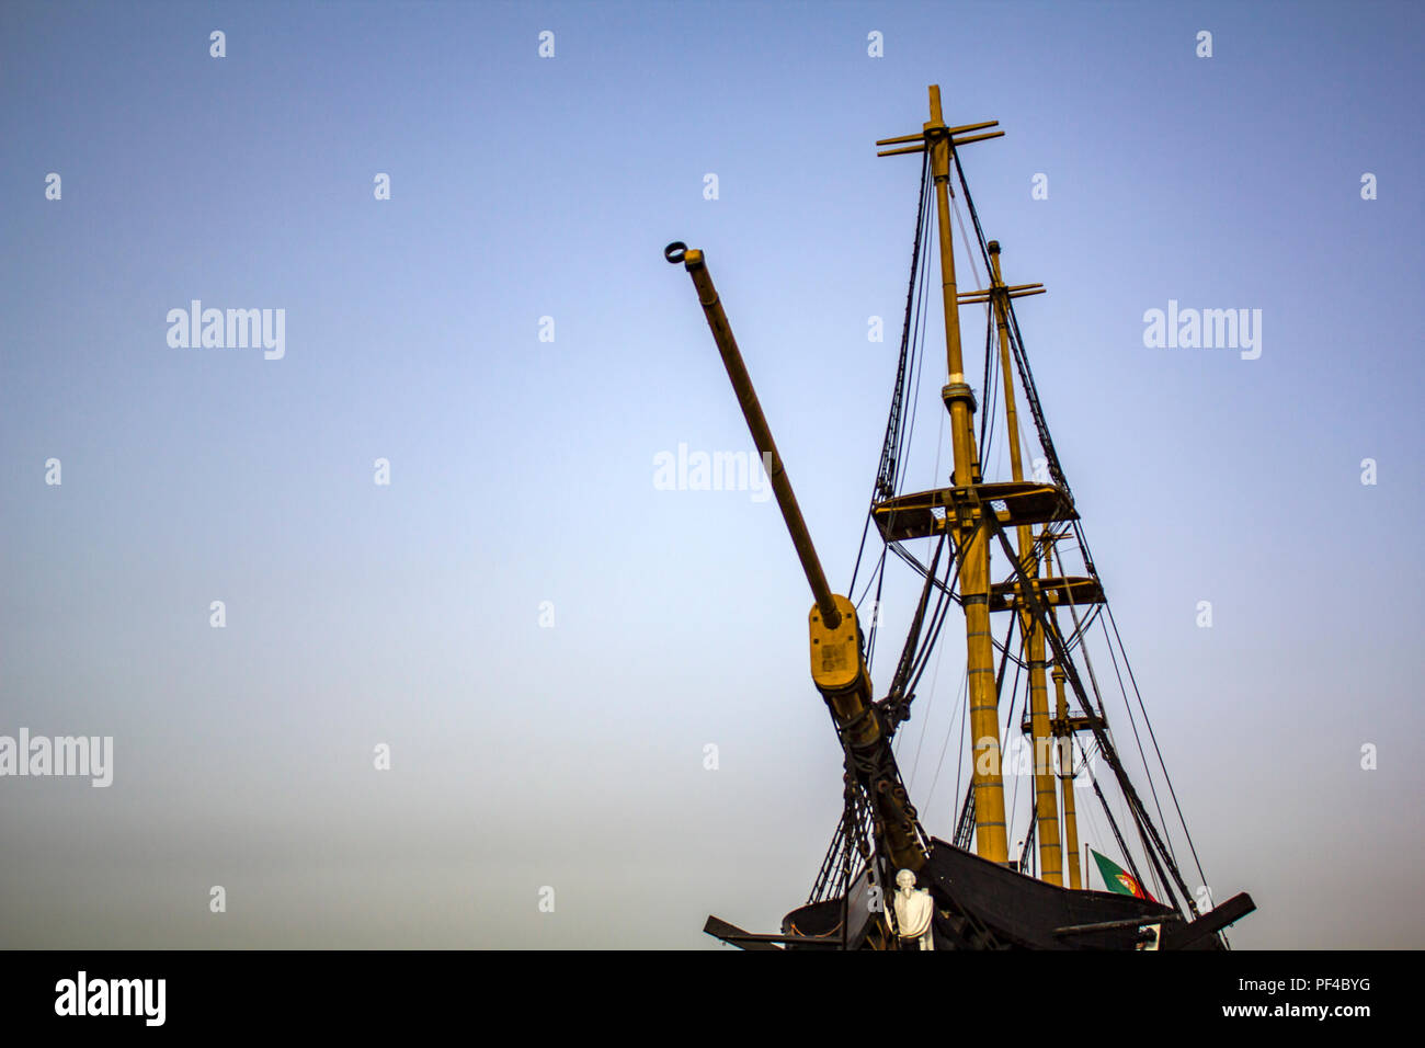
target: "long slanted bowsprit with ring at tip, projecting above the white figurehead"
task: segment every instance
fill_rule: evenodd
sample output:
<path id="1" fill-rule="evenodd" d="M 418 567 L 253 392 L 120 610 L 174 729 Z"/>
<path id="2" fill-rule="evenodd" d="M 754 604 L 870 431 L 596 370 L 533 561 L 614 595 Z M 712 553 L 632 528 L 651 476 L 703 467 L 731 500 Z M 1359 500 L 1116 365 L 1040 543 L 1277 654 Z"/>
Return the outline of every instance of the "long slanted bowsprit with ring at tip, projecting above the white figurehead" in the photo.
<path id="1" fill-rule="evenodd" d="M 871 673 L 866 670 L 862 653 L 855 605 L 839 593 L 832 593 L 826 585 L 826 575 L 811 542 L 811 532 L 807 530 L 807 522 L 797 505 L 791 481 L 782 466 L 782 456 L 777 451 L 767 416 L 762 415 L 762 405 L 757 399 L 757 391 L 747 374 L 742 352 L 737 348 L 737 339 L 727 322 L 722 301 L 712 285 L 703 252 L 674 242 L 663 254 L 670 262 L 683 262 L 693 277 L 698 302 L 712 329 L 712 341 L 722 355 L 727 376 L 732 382 L 752 442 L 762 459 L 770 463 L 767 472 L 772 482 L 772 493 L 777 496 L 777 505 L 782 510 L 782 519 L 787 522 L 787 530 L 815 600 L 808 615 L 812 683 L 831 707 L 841 737 L 858 757 L 862 786 L 876 807 L 878 824 L 885 834 L 885 847 L 892 864 L 898 870 L 918 871 L 926 861 L 925 846 L 915 823 L 915 808 L 899 776 L 895 774 L 895 760 L 889 753 L 885 727 L 872 706 Z"/>

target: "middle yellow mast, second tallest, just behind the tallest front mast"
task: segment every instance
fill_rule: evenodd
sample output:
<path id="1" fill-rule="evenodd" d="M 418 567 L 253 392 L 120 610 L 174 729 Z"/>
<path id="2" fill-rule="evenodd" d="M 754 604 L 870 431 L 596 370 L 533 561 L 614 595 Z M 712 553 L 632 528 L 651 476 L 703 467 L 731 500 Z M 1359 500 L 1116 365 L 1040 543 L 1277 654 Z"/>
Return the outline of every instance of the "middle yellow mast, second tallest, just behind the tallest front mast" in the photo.
<path id="1" fill-rule="evenodd" d="M 995 327 L 999 328 L 999 369 L 1005 376 L 1005 428 L 1009 436 L 1009 466 L 1015 481 L 1025 479 L 1025 463 L 1019 451 L 1019 413 L 1015 409 L 1015 369 L 1009 359 L 1009 299 L 1043 292 L 1040 285 L 1005 285 L 999 268 L 999 241 L 989 242 L 990 298 L 995 302 Z M 1019 563 L 1027 585 L 1039 579 L 1039 558 L 1035 552 L 1035 532 L 1027 523 L 1019 525 Z M 1039 841 L 1039 871 L 1050 884 L 1063 884 L 1063 846 L 1059 841 L 1059 800 L 1054 796 L 1054 767 L 1050 763 L 1049 689 L 1045 684 L 1045 633 L 1027 599 L 1015 602 L 1025 637 L 1029 662 L 1029 730 L 1035 753 L 1035 836 Z"/>

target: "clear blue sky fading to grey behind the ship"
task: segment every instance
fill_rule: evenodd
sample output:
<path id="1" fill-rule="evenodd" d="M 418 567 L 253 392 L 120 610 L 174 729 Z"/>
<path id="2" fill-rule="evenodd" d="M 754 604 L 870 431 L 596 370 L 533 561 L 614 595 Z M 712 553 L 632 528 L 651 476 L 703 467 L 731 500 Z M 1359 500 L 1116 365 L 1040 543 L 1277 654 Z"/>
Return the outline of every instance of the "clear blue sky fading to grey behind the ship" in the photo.
<path id="1" fill-rule="evenodd" d="M 966 173 L 1049 288 L 1029 358 L 1234 945 L 1419 947 L 1422 44 L 1387 3 L 4 4 L 0 736 L 111 737 L 113 783 L 0 777 L 0 945 L 774 931 L 839 749 L 775 502 L 657 481 L 751 449 L 663 247 L 844 589 L 919 178 L 874 143 L 940 84 L 1006 131 Z M 279 348 L 185 345 L 194 299 Z M 1146 345 L 1170 302 L 1260 355 Z M 902 740 L 942 837 L 962 660 Z"/>

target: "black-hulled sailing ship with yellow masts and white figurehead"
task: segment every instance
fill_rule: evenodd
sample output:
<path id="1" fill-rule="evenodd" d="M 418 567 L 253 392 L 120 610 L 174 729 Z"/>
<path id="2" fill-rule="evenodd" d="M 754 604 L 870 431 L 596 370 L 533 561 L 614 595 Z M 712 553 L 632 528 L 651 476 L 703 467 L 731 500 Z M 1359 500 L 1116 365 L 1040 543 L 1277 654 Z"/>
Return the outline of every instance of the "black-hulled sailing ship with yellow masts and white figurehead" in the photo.
<path id="1" fill-rule="evenodd" d="M 707 258 L 683 242 L 664 248 L 667 261 L 683 264 L 693 278 L 752 441 L 768 463 L 772 492 L 815 600 L 808 620 L 812 683 L 831 713 L 845 763 L 842 816 L 807 903 L 787 914 L 779 934 L 748 933 L 717 917 L 708 918 L 704 931 L 758 950 L 1224 950 L 1226 928 L 1254 904 L 1243 893 L 1211 905 L 1206 888 L 1188 887 L 1178 863 L 1186 843 L 1198 883 L 1206 884 L 1054 452 L 1015 317 L 1016 299 L 1045 288 L 1005 282 L 999 244 L 985 238 L 960 164 L 963 147 L 1003 131 L 992 130 L 998 127 L 993 120 L 948 127 L 938 86 L 929 88 L 929 101 L 931 118 L 919 133 L 876 143 L 891 147 L 882 157 L 921 155 L 921 197 L 891 413 L 862 532 L 862 556 L 868 538 L 872 550 L 879 539 L 881 550 L 858 602 L 826 583 Z M 958 212 L 960 201 L 973 230 L 973 238 L 965 235 L 965 248 L 976 272 L 979 262 L 985 272 L 985 287 L 966 292 L 958 289 L 950 235 L 952 208 Z M 905 423 L 912 382 L 923 366 L 932 228 L 948 364 L 942 421 L 949 423 L 953 471 L 948 486 L 905 490 L 913 431 Z M 986 315 L 979 396 L 966 378 L 962 307 L 982 307 Z M 1023 428 L 1020 401 L 1029 415 Z M 996 439 L 1007 442 L 1010 475 L 992 481 L 983 466 Z M 1030 442 L 1037 442 L 1039 455 L 1026 478 Z M 891 560 L 915 572 L 919 602 L 878 699 L 871 660 L 879 617 L 872 615 L 862 629 L 858 603 L 872 589 L 879 599 Z M 859 569 L 861 559 L 848 595 L 856 593 Z M 953 831 L 942 840 L 926 833 L 911 803 L 895 740 L 911 717 L 952 606 L 959 606 L 965 622 L 969 781 Z M 1157 756 L 1161 774 L 1153 776 L 1134 717 L 1140 776 L 1147 777 L 1153 807 L 1109 730 L 1100 692 L 1100 676 L 1107 674 L 1102 663 L 1096 672 L 1090 654 L 1100 642 L 1113 660 L 1129 716 L 1136 702 Z M 1010 666 L 1013 679 L 1006 687 Z M 1010 731 L 1022 733 L 1022 746 L 1032 751 L 1026 830 L 1016 857 L 1009 841 L 1019 823 L 1013 806 L 1006 806 L 1002 739 Z M 1176 844 L 1163 817 L 1160 780 L 1177 813 Z M 1106 790 L 1117 804 L 1110 804 Z M 1089 871 L 1080 865 L 1079 826 L 1090 814 L 1080 813 L 1083 801 L 1096 804 L 1106 818 L 1112 844 L 1106 840 L 1100 847 L 1116 850 L 1126 865 L 1094 853 L 1109 890 L 1090 888 Z"/>

